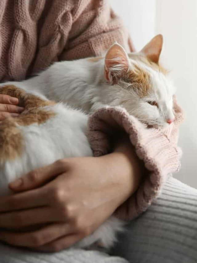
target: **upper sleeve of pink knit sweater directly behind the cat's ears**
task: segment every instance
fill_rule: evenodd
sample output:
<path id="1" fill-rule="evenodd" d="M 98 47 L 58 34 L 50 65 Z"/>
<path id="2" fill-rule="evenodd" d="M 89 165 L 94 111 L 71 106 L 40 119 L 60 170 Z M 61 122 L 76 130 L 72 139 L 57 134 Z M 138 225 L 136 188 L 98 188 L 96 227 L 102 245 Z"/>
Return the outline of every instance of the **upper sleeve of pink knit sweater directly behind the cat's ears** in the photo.
<path id="1" fill-rule="evenodd" d="M 72 27 L 60 60 L 101 56 L 115 42 L 135 51 L 122 20 L 106 0 L 83 2 L 72 10 Z"/>

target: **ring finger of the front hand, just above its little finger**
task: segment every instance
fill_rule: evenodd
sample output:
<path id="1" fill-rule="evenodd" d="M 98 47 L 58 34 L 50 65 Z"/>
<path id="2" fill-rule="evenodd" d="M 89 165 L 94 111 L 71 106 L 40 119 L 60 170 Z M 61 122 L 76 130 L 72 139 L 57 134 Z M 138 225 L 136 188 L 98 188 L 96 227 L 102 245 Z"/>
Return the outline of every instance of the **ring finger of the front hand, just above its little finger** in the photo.
<path id="1" fill-rule="evenodd" d="M 51 224 L 34 232 L 0 231 L 0 240 L 10 245 L 35 248 L 72 233 L 69 224 Z"/>

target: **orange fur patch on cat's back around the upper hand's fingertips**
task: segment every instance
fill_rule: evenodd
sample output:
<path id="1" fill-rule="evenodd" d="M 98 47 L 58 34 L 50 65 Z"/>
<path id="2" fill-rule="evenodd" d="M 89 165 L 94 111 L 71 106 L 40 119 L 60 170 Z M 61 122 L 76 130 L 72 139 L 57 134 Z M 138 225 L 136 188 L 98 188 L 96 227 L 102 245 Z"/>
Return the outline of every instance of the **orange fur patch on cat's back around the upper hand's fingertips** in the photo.
<path id="1" fill-rule="evenodd" d="M 53 101 L 45 101 L 39 97 L 28 94 L 14 85 L 6 85 L 1 88 L 1 94 L 16 97 L 19 106 L 25 110 L 18 117 L 7 118 L 0 124 L 0 160 L 14 160 L 21 156 L 23 149 L 23 137 L 18 125 L 26 126 L 33 123 L 42 124 L 55 116 L 52 110 L 42 108 L 51 106 Z"/>

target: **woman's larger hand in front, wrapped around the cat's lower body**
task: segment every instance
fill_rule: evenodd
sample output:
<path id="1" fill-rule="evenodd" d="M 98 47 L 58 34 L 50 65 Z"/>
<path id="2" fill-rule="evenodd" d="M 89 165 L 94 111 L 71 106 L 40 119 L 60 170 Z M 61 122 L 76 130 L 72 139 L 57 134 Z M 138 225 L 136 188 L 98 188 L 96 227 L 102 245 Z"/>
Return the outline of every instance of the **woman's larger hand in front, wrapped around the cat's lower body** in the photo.
<path id="1" fill-rule="evenodd" d="M 139 185 L 138 158 L 125 145 L 102 157 L 63 159 L 11 183 L 23 192 L 0 199 L 0 228 L 9 229 L 0 240 L 58 251 L 92 233 Z M 42 227 L 14 231 L 36 225 Z"/>

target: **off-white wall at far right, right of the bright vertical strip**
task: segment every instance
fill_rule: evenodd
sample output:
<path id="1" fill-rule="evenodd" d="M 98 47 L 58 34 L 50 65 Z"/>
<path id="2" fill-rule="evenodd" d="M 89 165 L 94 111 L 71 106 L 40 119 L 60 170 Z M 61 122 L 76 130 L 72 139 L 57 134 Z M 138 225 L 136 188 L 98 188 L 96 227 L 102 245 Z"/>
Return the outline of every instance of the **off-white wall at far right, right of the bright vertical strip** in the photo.
<path id="1" fill-rule="evenodd" d="M 177 87 L 186 120 L 180 129 L 181 181 L 197 188 L 197 1 L 158 0 L 156 32 L 164 35 L 162 61 Z"/>

